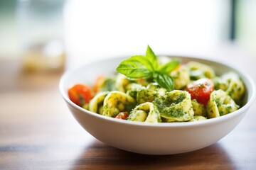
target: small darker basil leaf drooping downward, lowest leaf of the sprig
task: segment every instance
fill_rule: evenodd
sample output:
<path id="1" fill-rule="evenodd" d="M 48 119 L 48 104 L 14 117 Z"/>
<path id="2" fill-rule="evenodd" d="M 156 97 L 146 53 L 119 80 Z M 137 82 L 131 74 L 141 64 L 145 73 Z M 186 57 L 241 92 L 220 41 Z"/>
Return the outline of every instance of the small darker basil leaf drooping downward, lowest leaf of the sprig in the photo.
<path id="1" fill-rule="evenodd" d="M 167 74 L 162 74 L 161 72 L 156 72 L 154 74 L 154 81 L 156 81 L 159 86 L 169 91 L 174 90 L 174 80 L 171 76 Z"/>

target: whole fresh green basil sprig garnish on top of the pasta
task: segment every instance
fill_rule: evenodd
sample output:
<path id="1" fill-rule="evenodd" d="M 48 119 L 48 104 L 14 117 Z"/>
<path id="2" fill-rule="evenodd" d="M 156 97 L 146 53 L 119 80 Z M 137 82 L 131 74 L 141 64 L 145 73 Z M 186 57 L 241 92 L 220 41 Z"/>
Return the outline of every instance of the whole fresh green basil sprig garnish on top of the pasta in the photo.
<path id="1" fill-rule="evenodd" d="M 179 60 L 171 60 L 161 65 L 153 50 L 148 45 L 145 56 L 134 55 L 123 60 L 117 67 L 117 72 L 124 74 L 130 79 L 153 79 L 159 86 L 172 91 L 174 89 L 174 80 L 170 72 L 179 63 Z"/>

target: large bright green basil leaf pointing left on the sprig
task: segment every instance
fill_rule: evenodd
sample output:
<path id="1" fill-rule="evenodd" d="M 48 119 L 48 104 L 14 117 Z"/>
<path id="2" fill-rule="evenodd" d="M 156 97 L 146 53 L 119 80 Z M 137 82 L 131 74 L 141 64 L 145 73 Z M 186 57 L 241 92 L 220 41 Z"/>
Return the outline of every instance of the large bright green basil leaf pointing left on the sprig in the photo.
<path id="1" fill-rule="evenodd" d="M 117 67 L 117 72 L 132 79 L 149 78 L 153 73 L 151 70 L 151 63 L 142 55 L 129 57 Z"/>

